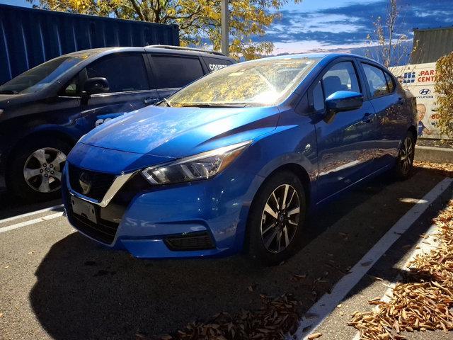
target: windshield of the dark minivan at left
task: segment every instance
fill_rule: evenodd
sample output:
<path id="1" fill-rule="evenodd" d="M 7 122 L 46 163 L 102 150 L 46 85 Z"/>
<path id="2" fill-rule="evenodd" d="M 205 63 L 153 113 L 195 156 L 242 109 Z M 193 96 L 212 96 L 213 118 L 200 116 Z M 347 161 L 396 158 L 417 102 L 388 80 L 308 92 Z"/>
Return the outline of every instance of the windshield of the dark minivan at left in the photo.
<path id="1" fill-rule="evenodd" d="M 49 60 L 0 86 L 0 94 L 29 94 L 31 92 L 38 92 L 52 84 L 55 79 L 83 59 L 83 57 L 65 56 Z"/>

